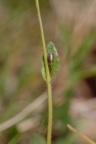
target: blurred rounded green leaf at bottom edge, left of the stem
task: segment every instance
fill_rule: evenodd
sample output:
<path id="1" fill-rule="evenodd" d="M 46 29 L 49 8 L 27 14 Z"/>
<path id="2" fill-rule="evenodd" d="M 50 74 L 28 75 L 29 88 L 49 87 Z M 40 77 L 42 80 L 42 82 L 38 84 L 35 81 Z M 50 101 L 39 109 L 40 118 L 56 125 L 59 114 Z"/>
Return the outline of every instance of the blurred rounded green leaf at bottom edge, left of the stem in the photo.
<path id="1" fill-rule="evenodd" d="M 46 144 L 46 141 L 45 141 L 44 137 L 34 134 L 31 137 L 30 144 Z"/>

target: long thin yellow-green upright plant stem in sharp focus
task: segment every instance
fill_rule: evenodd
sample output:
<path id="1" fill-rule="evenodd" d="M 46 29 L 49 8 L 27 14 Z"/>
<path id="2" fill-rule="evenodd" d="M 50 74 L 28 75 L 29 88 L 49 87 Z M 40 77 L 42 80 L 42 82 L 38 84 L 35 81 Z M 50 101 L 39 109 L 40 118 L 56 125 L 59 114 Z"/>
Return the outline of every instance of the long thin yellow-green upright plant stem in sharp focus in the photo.
<path id="1" fill-rule="evenodd" d="M 38 13 L 38 20 L 40 25 L 40 31 L 41 31 L 41 38 L 42 38 L 42 45 L 43 45 L 43 52 L 44 52 L 44 62 L 45 62 L 45 71 L 46 71 L 46 78 L 47 78 L 47 89 L 48 89 L 48 132 L 47 132 L 47 144 L 51 144 L 51 135 L 52 135 L 52 91 L 51 91 L 51 78 L 48 68 L 48 62 L 47 62 L 47 52 L 46 52 L 46 44 L 45 44 L 45 37 L 44 37 L 44 30 L 43 30 L 43 24 L 40 14 L 40 8 L 39 8 L 39 1 L 35 0 L 36 2 L 36 8 Z"/>

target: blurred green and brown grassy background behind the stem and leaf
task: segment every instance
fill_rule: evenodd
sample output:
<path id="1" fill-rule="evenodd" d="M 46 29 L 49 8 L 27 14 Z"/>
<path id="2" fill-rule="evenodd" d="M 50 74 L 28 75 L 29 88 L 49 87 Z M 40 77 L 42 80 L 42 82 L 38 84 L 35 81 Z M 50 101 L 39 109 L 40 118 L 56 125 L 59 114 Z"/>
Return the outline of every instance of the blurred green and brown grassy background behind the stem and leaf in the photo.
<path id="1" fill-rule="evenodd" d="M 83 143 L 68 123 L 96 139 L 95 5 L 40 0 L 46 44 L 55 44 L 60 60 L 52 84 L 53 144 Z M 35 0 L 0 0 L 0 144 L 46 143 L 42 55 Z"/>

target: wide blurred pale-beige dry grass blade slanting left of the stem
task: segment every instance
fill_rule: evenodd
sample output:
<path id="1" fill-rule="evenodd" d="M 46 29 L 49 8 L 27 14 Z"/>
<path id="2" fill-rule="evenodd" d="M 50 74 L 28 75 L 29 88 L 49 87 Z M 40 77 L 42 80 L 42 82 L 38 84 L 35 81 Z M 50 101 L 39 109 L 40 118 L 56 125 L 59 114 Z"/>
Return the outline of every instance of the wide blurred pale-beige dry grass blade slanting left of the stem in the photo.
<path id="1" fill-rule="evenodd" d="M 16 125 L 24 118 L 26 118 L 31 112 L 40 109 L 41 105 L 45 102 L 46 99 L 46 92 L 44 92 L 41 96 L 39 96 L 36 100 L 34 100 L 26 108 L 24 108 L 19 114 L 15 115 L 14 117 L 5 121 L 4 123 L 1 123 L 0 132 Z"/>

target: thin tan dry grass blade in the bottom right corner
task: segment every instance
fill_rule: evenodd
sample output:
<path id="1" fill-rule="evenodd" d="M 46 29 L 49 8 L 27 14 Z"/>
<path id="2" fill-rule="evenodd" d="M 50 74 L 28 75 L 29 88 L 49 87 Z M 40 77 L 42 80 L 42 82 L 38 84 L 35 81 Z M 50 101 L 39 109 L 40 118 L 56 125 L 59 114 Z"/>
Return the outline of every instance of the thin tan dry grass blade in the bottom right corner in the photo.
<path id="1" fill-rule="evenodd" d="M 75 134 L 77 134 L 78 136 L 80 136 L 84 141 L 86 141 L 89 144 L 96 144 L 94 141 L 92 141 L 90 138 L 88 138 L 87 136 L 85 136 L 84 134 L 82 134 L 81 132 L 79 132 L 78 130 L 76 130 L 74 127 L 72 127 L 71 125 L 67 125 L 68 128 L 74 132 Z"/>

